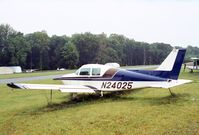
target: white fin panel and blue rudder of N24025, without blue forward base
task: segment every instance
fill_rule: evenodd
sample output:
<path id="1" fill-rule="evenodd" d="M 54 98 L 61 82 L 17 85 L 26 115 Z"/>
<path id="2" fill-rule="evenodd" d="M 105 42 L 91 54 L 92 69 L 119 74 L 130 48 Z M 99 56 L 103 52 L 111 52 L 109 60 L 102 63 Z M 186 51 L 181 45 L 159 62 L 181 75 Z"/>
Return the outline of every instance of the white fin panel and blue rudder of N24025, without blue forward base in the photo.
<path id="1" fill-rule="evenodd" d="M 169 78 L 178 79 L 185 53 L 186 49 L 173 49 L 156 70 L 167 71 Z"/>

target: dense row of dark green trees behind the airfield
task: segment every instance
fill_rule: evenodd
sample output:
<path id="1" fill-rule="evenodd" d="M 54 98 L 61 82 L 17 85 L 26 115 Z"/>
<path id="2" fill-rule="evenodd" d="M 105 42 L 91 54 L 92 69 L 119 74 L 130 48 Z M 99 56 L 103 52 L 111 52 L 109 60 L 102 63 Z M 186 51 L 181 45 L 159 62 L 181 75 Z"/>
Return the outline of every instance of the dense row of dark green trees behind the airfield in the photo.
<path id="1" fill-rule="evenodd" d="M 0 25 L 0 66 L 49 70 L 107 62 L 152 65 L 160 64 L 172 48 L 169 44 L 138 42 L 118 34 L 86 32 L 49 37 L 45 31 L 23 34 L 8 24 Z M 188 57 L 199 55 L 199 48 L 187 49 Z"/>

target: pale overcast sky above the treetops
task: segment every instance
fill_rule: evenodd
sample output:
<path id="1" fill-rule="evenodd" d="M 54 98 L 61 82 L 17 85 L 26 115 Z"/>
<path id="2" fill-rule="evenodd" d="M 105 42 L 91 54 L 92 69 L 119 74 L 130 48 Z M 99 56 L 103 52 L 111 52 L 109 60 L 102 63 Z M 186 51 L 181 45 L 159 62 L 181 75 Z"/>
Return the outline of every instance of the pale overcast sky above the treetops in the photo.
<path id="1" fill-rule="evenodd" d="M 199 0 L 0 0 L 0 24 L 24 34 L 116 33 L 199 47 Z"/>

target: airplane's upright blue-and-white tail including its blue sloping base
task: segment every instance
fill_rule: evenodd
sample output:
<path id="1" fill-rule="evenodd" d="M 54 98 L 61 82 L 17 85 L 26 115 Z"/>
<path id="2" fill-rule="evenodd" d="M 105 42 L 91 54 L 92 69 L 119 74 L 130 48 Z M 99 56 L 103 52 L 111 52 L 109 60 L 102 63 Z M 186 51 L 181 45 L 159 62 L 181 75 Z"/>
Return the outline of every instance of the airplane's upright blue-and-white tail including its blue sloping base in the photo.
<path id="1" fill-rule="evenodd" d="M 185 53 L 186 49 L 173 49 L 156 70 L 137 70 L 136 72 L 177 80 Z"/>

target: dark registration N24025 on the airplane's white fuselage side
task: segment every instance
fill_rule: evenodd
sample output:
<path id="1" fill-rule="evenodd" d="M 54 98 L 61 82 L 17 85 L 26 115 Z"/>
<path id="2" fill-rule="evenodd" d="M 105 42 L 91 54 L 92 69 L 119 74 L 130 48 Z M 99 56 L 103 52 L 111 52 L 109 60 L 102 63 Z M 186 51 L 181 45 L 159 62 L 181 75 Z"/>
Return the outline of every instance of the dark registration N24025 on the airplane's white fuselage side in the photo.
<path id="1" fill-rule="evenodd" d="M 102 89 L 132 89 L 133 82 L 103 82 Z"/>

